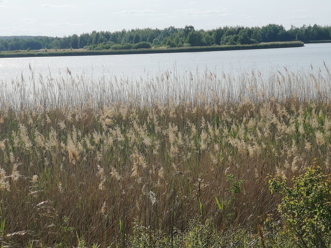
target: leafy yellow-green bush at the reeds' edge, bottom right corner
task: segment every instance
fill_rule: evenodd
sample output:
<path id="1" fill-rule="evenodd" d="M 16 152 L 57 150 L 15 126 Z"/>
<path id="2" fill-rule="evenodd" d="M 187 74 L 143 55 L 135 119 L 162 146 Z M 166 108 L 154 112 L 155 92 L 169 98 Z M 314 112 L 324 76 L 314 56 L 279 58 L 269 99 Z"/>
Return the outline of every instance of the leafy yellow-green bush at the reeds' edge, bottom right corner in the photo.
<path id="1" fill-rule="evenodd" d="M 279 175 L 270 178 L 271 193 L 282 196 L 279 213 L 298 246 L 330 247 L 331 174 L 324 175 L 315 165 L 293 178 L 292 187 Z"/>

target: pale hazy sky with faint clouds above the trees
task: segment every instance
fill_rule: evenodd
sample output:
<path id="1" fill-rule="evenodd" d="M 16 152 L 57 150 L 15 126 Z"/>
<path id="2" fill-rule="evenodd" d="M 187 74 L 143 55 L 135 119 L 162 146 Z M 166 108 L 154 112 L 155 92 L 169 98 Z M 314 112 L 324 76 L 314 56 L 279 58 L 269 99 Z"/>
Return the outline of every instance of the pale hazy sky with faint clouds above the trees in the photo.
<path id="1" fill-rule="evenodd" d="M 93 30 L 268 23 L 331 24 L 330 0 L 0 0 L 0 36 L 68 36 Z"/>

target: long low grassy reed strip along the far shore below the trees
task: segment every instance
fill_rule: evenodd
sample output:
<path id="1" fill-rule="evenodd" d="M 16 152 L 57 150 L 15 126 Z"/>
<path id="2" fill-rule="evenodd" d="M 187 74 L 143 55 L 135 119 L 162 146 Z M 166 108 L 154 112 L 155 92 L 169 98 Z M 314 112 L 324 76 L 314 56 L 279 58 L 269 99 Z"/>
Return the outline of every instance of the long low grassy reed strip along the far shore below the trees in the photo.
<path id="1" fill-rule="evenodd" d="M 41 50 L 33 51 L 6 51 L 0 53 L 0 58 L 16 57 L 51 57 L 51 56 L 88 56 L 88 55 L 119 55 L 119 54 L 155 54 L 155 53 L 185 53 L 185 52 L 211 52 L 211 51 L 231 51 L 231 50 L 249 50 L 249 49 L 268 49 L 268 48 L 289 48 L 303 47 L 301 41 L 291 42 L 270 42 L 253 45 L 230 45 L 230 46 L 205 46 L 205 47 L 178 47 L 178 48 L 151 48 L 151 49 L 131 49 L 131 50 L 104 50 L 88 51 L 83 49 L 73 50 Z"/>

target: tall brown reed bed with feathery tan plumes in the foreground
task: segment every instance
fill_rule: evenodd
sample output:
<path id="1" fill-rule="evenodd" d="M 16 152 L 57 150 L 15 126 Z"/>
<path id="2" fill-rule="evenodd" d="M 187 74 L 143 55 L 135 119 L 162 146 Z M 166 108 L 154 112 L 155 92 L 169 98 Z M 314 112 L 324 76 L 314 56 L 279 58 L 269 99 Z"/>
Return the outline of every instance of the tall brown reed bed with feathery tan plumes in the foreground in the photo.
<path id="1" fill-rule="evenodd" d="M 2 82 L 1 242 L 265 247 L 267 174 L 330 172 L 330 86 L 326 65 Z"/>

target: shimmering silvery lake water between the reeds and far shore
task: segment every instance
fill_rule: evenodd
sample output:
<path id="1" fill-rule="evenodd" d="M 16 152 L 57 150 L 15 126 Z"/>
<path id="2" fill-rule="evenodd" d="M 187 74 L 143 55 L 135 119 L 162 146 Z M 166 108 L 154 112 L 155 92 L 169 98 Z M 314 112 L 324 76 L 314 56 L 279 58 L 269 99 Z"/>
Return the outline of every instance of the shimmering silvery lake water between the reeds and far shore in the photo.
<path id="1" fill-rule="evenodd" d="M 12 78 L 28 78 L 29 63 L 36 74 L 43 76 L 51 72 L 53 78 L 66 73 L 67 67 L 73 75 L 85 73 L 93 78 L 125 75 L 140 78 L 141 75 L 155 75 L 166 70 L 179 74 L 191 70 L 209 70 L 220 74 L 222 71 L 238 73 L 252 68 L 269 73 L 270 70 L 323 70 L 323 62 L 331 67 L 331 43 L 305 44 L 305 47 L 259 49 L 241 51 L 217 51 L 194 53 L 69 56 L 38 58 L 0 58 L 0 81 Z"/>

